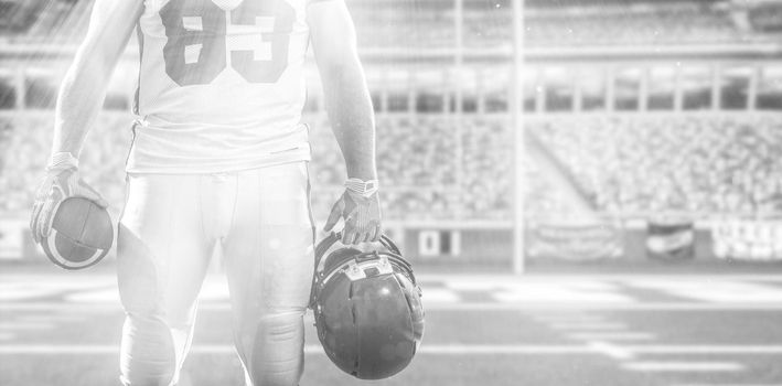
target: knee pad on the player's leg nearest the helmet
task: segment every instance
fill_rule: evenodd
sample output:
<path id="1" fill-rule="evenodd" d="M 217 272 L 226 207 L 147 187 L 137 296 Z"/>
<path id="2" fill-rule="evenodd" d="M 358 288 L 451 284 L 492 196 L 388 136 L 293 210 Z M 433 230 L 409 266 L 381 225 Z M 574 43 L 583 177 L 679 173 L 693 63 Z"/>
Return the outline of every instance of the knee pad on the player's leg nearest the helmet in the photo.
<path id="1" fill-rule="evenodd" d="M 245 323 L 236 333 L 249 385 L 298 385 L 304 364 L 301 312 L 266 315 Z"/>

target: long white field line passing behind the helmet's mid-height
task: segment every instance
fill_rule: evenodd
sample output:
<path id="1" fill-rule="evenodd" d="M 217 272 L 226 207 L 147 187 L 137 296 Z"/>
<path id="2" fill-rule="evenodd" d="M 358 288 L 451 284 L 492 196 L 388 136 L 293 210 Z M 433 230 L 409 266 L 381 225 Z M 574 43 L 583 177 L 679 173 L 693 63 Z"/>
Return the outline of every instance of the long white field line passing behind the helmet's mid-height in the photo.
<path id="1" fill-rule="evenodd" d="M 773 303 L 700 303 L 700 302 L 653 302 L 653 303 L 427 303 L 424 308 L 432 311 L 782 311 L 782 302 Z M 119 303 L 63 303 L 63 302 L 0 302 L 0 311 L 122 311 Z M 205 302 L 199 310 L 228 311 L 227 302 Z"/>

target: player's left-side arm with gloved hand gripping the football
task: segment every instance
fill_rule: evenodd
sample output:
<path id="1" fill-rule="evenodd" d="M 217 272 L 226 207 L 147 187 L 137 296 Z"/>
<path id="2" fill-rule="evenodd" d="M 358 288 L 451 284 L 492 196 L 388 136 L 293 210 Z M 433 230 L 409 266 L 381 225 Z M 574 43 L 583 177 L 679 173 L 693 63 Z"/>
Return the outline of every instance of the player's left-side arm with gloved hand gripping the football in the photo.
<path id="1" fill-rule="evenodd" d="M 96 1 L 89 29 L 63 79 L 54 122 L 52 157 L 35 194 L 30 228 L 35 242 L 49 235 L 60 204 L 71 196 L 107 203 L 78 173 L 78 154 L 106 96 L 111 72 L 143 9 L 141 0 Z"/>

